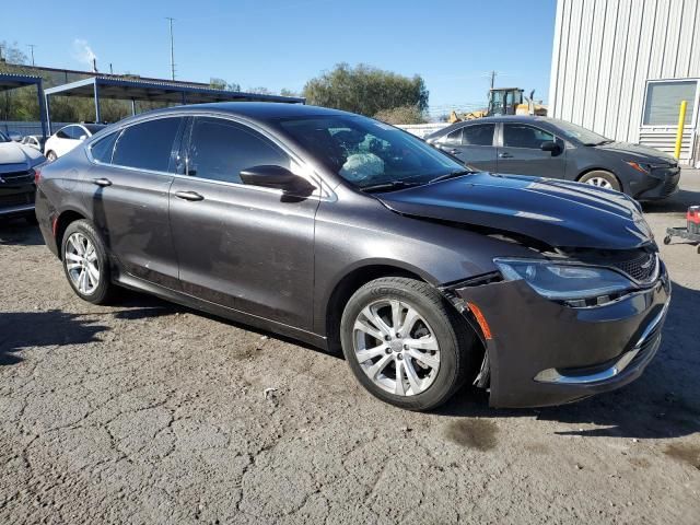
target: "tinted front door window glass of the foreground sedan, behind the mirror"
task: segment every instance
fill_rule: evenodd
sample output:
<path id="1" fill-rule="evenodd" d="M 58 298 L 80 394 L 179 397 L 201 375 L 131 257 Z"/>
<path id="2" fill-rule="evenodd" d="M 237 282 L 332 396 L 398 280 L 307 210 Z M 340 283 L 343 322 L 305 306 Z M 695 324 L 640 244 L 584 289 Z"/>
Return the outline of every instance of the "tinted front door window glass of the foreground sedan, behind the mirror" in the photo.
<path id="1" fill-rule="evenodd" d="M 221 118 L 196 118 L 187 174 L 212 180 L 241 183 L 241 172 L 259 165 L 290 167 L 290 159 L 252 129 Z"/>

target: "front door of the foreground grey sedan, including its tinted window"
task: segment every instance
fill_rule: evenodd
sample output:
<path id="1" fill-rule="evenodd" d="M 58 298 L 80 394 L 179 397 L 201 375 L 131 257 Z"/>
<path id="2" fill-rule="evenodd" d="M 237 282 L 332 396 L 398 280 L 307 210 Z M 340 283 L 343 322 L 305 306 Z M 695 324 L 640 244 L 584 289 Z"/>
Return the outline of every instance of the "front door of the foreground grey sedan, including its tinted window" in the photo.
<path id="1" fill-rule="evenodd" d="M 296 328 L 312 328 L 315 196 L 244 185 L 241 171 L 299 164 L 248 126 L 195 117 L 185 176 L 171 187 L 184 292 Z"/>

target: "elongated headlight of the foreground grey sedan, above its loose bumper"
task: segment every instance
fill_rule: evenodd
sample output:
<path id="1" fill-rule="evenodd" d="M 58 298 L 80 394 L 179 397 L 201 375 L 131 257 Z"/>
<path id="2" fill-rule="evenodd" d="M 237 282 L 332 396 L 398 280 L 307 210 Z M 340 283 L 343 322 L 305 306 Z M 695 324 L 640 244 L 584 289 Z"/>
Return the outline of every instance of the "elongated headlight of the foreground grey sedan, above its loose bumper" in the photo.
<path id="1" fill-rule="evenodd" d="M 604 304 L 634 288 L 628 278 L 607 268 L 538 259 L 495 258 L 493 261 L 506 280 L 523 279 L 540 295 L 570 306 Z"/>

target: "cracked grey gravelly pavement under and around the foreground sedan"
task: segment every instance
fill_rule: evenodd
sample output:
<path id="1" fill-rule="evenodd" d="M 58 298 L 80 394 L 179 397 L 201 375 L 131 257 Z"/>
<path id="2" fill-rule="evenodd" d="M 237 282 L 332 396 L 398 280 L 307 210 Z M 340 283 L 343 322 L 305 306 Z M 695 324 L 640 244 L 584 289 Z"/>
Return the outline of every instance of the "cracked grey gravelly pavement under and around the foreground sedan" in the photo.
<path id="1" fill-rule="evenodd" d="M 645 207 L 657 237 L 700 173 Z M 661 247 L 664 342 L 576 405 L 383 405 L 346 363 L 133 293 L 74 296 L 35 228 L 0 225 L 0 523 L 700 522 L 700 255 Z M 266 395 L 267 392 L 267 395 Z"/>

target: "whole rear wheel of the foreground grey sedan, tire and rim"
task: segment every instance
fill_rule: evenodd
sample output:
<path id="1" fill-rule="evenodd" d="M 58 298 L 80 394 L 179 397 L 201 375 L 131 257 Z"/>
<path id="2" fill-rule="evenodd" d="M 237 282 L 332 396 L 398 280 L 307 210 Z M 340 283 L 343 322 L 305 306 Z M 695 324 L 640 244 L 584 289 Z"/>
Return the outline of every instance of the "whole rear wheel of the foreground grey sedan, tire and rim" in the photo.
<path id="1" fill-rule="evenodd" d="M 61 243 L 63 271 L 75 294 L 93 304 L 109 301 L 114 284 L 109 280 L 107 252 L 90 221 L 71 222 Z"/>

